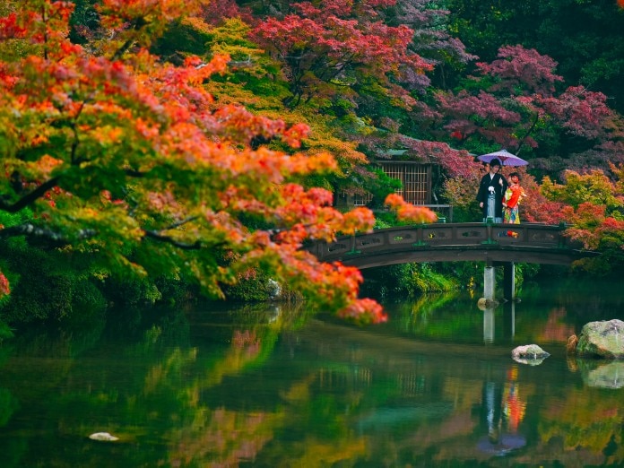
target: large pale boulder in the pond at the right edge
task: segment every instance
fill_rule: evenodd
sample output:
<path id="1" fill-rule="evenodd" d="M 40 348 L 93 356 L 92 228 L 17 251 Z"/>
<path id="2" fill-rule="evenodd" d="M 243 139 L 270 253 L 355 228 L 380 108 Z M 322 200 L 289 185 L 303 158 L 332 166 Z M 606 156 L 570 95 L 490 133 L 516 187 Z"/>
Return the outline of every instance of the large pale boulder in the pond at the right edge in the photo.
<path id="1" fill-rule="evenodd" d="M 582 358 L 624 359 L 624 322 L 618 319 L 589 322 L 576 343 Z"/>

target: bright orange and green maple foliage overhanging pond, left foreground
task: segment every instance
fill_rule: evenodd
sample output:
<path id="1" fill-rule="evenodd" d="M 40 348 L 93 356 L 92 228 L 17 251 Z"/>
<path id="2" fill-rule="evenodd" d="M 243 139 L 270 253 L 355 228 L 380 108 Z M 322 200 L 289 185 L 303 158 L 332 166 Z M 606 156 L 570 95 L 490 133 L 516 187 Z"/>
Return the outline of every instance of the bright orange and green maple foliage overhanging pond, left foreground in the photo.
<path id="1" fill-rule="evenodd" d="M 193 276 L 222 296 L 221 285 L 261 267 L 319 307 L 384 320 L 377 303 L 358 299 L 357 269 L 300 248 L 372 229 L 367 209 L 338 212 L 330 192 L 297 182 L 334 171 L 334 158 L 251 145 L 260 136 L 294 150 L 308 126 L 216 105 L 204 82 L 229 56 L 174 66 L 146 48 L 166 22 L 201 4 L 105 0 L 100 24 L 112 39 L 88 48 L 67 39 L 69 2 L 27 0 L 0 18 L 0 40 L 32 47 L 0 62 L 0 209 L 28 207 L 38 232 L 111 272 Z"/>

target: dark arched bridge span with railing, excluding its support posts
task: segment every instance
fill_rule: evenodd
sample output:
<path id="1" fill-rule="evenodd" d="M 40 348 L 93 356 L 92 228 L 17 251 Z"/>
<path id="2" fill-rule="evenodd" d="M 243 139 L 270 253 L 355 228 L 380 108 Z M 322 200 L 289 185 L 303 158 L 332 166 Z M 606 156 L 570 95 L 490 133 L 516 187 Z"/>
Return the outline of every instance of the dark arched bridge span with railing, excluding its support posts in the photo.
<path id="1" fill-rule="evenodd" d="M 419 224 L 316 242 L 308 251 L 324 262 L 338 260 L 360 269 L 412 262 L 571 264 L 598 255 L 571 242 L 565 230 L 528 222 Z"/>

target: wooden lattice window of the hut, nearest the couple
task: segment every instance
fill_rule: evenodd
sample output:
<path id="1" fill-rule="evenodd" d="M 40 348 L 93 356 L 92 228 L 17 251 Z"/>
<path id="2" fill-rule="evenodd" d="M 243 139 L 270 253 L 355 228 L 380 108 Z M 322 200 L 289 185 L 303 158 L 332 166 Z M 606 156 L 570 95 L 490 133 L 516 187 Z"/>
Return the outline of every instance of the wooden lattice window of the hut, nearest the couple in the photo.
<path id="1" fill-rule="evenodd" d="M 403 188 L 396 193 L 403 196 L 403 200 L 411 204 L 431 203 L 431 167 L 429 164 L 410 162 L 382 162 L 390 178 L 398 178 Z"/>

